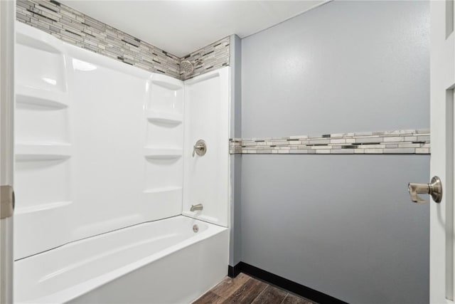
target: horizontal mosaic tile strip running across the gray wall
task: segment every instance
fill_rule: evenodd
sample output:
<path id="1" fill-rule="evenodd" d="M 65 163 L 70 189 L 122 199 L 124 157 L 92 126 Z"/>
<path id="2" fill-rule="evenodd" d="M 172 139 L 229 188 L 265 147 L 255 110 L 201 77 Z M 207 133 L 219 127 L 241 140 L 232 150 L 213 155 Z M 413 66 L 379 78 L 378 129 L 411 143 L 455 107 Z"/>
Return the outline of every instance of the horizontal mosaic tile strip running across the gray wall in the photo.
<path id="1" fill-rule="evenodd" d="M 232 138 L 231 154 L 430 154 L 429 130 Z"/>

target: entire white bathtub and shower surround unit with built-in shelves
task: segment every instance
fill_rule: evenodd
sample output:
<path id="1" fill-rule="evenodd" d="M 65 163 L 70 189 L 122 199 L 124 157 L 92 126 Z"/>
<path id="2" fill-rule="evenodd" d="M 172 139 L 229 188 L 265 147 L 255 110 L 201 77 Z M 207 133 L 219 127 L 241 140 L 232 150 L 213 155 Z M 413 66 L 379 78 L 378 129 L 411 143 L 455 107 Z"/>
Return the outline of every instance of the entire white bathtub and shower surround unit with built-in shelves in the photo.
<path id="1" fill-rule="evenodd" d="M 198 298 L 228 271 L 229 67 L 181 81 L 16 28 L 16 302 Z"/>

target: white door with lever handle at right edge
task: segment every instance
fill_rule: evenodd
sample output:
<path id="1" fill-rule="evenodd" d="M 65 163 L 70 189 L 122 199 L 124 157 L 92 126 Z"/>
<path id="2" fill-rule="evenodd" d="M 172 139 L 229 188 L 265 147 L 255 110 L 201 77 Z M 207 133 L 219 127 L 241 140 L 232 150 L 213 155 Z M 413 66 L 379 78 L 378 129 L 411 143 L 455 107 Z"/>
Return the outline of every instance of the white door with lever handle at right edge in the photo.
<path id="1" fill-rule="evenodd" d="M 431 1 L 431 177 L 443 195 L 430 204 L 430 303 L 454 303 L 454 1 Z"/>

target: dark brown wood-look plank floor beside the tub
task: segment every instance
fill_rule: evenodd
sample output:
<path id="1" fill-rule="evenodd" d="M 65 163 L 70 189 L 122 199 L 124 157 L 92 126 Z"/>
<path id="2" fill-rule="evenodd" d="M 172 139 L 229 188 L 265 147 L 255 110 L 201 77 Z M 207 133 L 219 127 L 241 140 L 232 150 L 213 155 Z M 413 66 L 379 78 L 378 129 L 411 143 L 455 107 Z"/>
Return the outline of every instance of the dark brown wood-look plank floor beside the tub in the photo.
<path id="1" fill-rule="evenodd" d="M 193 304 L 267 303 L 267 304 L 316 304 L 306 298 L 288 293 L 273 285 L 240 273 L 236 278 L 226 277 Z"/>

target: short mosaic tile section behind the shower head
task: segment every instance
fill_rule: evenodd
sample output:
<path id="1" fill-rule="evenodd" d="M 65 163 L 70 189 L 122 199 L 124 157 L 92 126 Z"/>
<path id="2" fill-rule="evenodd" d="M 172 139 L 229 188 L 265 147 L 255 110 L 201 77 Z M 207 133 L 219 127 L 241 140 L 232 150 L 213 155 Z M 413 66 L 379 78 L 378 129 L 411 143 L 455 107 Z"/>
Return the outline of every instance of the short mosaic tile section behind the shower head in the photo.
<path id="1" fill-rule="evenodd" d="M 229 65 L 229 45 L 230 37 L 228 36 L 181 58 L 181 61 L 190 61 L 194 65 L 194 72 L 189 75 L 184 75 L 181 71 L 181 80 L 190 79 Z"/>

